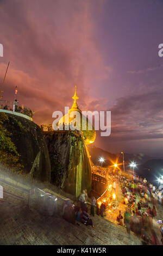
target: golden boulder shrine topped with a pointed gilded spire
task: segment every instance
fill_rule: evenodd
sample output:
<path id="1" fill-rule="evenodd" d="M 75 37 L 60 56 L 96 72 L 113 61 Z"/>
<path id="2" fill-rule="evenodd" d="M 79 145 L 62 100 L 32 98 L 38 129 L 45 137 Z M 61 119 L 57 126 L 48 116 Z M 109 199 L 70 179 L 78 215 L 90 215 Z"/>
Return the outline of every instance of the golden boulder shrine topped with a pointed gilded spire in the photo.
<path id="1" fill-rule="evenodd" d="M 71 126 L 71 122 L 73 122 L 74 118 L 76 119 L 74 126 L 77 127 L 77 130 L 82 131 L 82 137 L 85 141 L 86 144 L 91 144 L 95 141 L 96 139 L 96 131 L 93 127 L 93 125 L 90 123 L 89 119 L 87 117 L 85 117 L 85 115 L 82 114 L 82 111 L 79 109 L 78 104 L 77 104 L 77 100 L 79 99 L 77 96 L 77 86 L 75 87 L 75 93 L 74 96 L 72 97 L 72 99 L 74 100 L 73 105 L 71 107 L 71 109 L 69 109 L 69 112 L 67 114 L 64 115 L 64 117 L 62 117 L 59 122 L 58 125 L 60 124 L 64 124 L 65 126 L 70 125 Z M 77 111 L 79 114 L 76 115 Z M 82 119 L 83 124 L 82 124 Z M 83 129 L 82 129 L 82 125 L 83 125 Z M 92 127 L 91 130 L 89 130 L 89 127 Z"/>

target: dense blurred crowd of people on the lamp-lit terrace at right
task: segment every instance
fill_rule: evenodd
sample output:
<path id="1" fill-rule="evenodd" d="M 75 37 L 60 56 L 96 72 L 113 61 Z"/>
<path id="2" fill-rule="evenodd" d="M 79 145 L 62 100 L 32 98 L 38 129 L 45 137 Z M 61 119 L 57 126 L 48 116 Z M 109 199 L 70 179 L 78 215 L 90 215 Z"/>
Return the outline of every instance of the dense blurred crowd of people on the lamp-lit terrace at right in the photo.
<path id="1" fill-rule="evenodd" d="M 124 216 L 120 211 L 117 223 L 126 227 L 128 234 L 133 231 L 136 236 L 140 237 L 143 245 L 163 245 L 162 221 L 157 221 L 156 218 L 155 205 L 162 204 L 160 200 L 162 195 L 160 196 L 158 188 L 149 184 L 146 178 L 142 179 L 139 176 L 128 178 L 120 175 L 117 182 L 120 182 L 124 196 L 123 203 L 126 205 Z"/>

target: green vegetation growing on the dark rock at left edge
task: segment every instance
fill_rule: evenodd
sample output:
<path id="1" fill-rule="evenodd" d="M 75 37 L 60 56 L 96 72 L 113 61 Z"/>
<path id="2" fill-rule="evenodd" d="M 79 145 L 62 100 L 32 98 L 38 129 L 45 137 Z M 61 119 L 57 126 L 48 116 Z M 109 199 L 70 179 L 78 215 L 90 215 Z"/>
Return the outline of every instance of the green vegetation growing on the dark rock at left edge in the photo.
<path id="1" fill-rule="evenodd" d="M 23 169 L 20 163 L 20 154 L 17 153 L 16 146 L 11 141 L 12 133 L 3 127 L 7 121 L 9 121 L 8 115 L 0 113 L 0 162 L 20 172 Z"/>

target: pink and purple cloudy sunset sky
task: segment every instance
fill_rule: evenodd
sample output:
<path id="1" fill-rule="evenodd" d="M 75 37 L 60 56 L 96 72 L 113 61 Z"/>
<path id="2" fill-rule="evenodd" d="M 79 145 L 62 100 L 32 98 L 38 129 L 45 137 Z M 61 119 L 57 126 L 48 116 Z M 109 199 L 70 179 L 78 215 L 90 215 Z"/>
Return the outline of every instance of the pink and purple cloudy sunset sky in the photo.
<path id="1" fill-rule="evenodd" d="M 111 111 L 111 135 L 96 147 L 163 155 L 162 0 L 0 0 L 3 99 L 51 124 L 72 106 Z"/>

